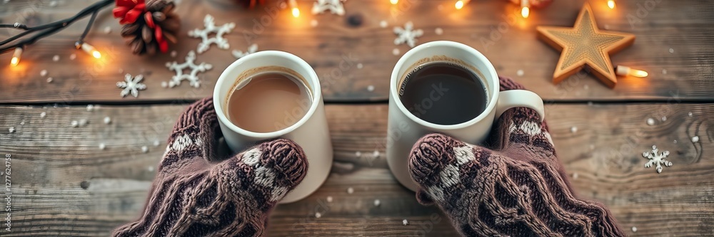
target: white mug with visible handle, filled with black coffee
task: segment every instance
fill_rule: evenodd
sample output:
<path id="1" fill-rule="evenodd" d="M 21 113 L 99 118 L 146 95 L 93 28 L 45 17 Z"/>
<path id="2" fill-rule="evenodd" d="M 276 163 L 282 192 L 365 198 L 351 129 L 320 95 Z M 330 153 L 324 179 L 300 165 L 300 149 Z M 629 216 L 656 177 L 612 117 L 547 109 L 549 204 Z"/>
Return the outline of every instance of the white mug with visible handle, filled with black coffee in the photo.
<path id="1" fill-rule="evenodd" d="M 512 107 L 530 107 L 543 120 L 543 100 L 528 90 L 500 91 L 496 69 L 476 49 L 451 41 L 417 46 L 391 74 L 387 164 L 401 184 L 416 191 L 408 159 L 419 138 L 441 132 L 478 144 Z"/>

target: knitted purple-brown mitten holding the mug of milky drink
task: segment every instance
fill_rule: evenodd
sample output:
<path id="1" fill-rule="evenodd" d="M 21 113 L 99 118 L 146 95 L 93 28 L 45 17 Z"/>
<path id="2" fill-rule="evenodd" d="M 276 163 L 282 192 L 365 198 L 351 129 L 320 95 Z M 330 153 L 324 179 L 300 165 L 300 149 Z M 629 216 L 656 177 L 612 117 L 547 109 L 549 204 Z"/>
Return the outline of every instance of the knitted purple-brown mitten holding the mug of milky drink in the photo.
<path id="1" fill-rule="evenodd" d="M 218 159 L 211 98 L 189 106 L 169 137 L 141 218 L 114 236 L 263 236 L 268 214 L 308 169 L 287 139 Z"/>

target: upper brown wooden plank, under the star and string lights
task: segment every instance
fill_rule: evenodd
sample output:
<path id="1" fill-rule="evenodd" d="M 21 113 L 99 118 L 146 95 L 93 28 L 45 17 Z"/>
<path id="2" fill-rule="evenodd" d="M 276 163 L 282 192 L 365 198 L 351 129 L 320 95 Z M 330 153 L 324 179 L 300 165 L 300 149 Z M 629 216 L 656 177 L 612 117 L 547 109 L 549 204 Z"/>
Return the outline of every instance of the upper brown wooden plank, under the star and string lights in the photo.
<path id="1" fill-rule="evenodd" d="M 2 23 L 25 22 L 29 25 L 46 23 L 71 16 L 91 0 L 11 1 L 0 5 Z M 0 94 L 0 102 L 129 102 L 196 100 L 211 95 L 212 88 L 223 68 L 235 58 L 230 51 L 211 48 L 198 55 L 198 61 L 214 65 L 201 75 L 201 88 L 190 88 L 186 83 L 178 88 L 161 88 L 172 73 L 164 64 L 183 61 L 183 56 L 196 48 L 198 39 L 188 38 L 186 32 L 202 27 L 206 14 L 216 17 L 216 23 L 235 22 L 236 29 L 226 35 L 231 49 L 245 51 L 251 43 L 259 50 L 279 50 L 304 58 L 315 68 L 323 84 L 325 100 L 374 101 L 386 100 L 388 78 L 399 56 L 408 46 L 395 46 L 394 26 L 413 21 L 425 31 L 418 43 L 436 40 L 459 41 L 481 51 L 501 75 L 516 76 L 518 82 L 546 100 L 659 100 L 669 98 L 696 100 L 714 98 L 710 79 L 714 78 L 714 4 L 708 1 L 682 0 L 622 0 L 617 8 L 607 9 L 605 1 L 592 2 L 600 28 L 625 31 L 637 36 L 635 44 L 612 57 L 615 65 L 628 65 L 650 72 L 645 79 L 618 78 L 618 85 L 610 90 L 585 73 L 566 79 L 559 85 L 550 83 L 560 53 L 536 40 L 535 26 L 573 26 L 584 0 L 555 1 L 545 9 L 533 10 L 527 20 L 520 19 L 518 8 L 508 1 L 474 1 L 456 11 L 448 1 L 406 0 L 398 6 L 388 1 L 346 1 L 346 16 L 309 13 L 311 1 L 299 1 L 303 12 L 299 19 L 288 11 L 275 11 L 274 6 L 247 11 L 230 4 L 229 0 L 182 1 L 176 11 L 182 17 L 180 43 L 172 50 L 178 56 L 132 56 L 119 36 L 119 24 L 103 11 L 87 41 L 104 53 L 102 60 L 92 60 L 72 48 L 84 28 L 79 21 L 62 31 L 31 46 L 23 55 L 21 66 L 9 68 L 9 54 L 0 56 L 0 88 L 12 88 Z M 267 9 L 267 10 L 266 10 Z M 274 16 L 274 17 L 271 17 Z M 318 26 L 312 27 L 312 20 Z M 380 21 L 388 27 L 381 28 Z M 361 22 L 353 24 L 350 22 Z M 104 33 L 104 28 L 111 33 Z M 443 34 L 437 35 L 436 28 Z M 0 31 L 1 36 L 16 33 Z M 3 37 L 4 38 L 4 37 Z M 673 53 L 670 53 L 670 48 Z M 69 60 L 75 53 L 77 58 Z M 58 62 L 52 60 L 60 56 Z M 359 69 L 357 64 L 363 68 Z M 41 70 L 48 70 L 46 83 Z M 665 72 L 666 70 L 666 72 Z M 121 71 L 121 72 L 120 72 Z M 115 83 L 124 73 L 146 75 L 148 89 L 139 98 L 120 98 Z M 372 85 L 374 90 L 367 90 Z"/>

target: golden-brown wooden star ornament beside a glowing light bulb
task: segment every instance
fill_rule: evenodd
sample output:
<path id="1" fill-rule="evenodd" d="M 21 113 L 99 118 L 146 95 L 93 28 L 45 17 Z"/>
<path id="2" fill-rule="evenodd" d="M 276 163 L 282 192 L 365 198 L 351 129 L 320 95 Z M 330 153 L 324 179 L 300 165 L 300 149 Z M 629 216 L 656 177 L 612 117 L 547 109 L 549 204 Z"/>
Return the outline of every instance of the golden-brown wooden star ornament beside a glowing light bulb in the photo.
<path id="1" fill-rule="evenodd" d="M 600 31 L 590 4 L 585 4 L 580 10 L 573 28 L 538 26 L 536 29 L 538 38 L 562 52 L 553 73 L 555 84 L 588 66 L 593 75 L 614 88 L 618 80 L 610 53 L 635 43 L 635 35 L 631 33 Z"/>

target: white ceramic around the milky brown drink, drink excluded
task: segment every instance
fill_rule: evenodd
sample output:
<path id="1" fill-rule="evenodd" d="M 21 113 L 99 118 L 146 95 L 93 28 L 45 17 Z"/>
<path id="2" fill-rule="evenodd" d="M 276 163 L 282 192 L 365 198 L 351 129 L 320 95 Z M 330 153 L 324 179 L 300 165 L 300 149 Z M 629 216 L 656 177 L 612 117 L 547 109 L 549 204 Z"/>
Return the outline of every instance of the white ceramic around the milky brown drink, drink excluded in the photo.
<path id="1" fill-rule="evenodd" d="M 244 78 L 244 73 L 266 66 L 287 68 L 297 73 L 298 75 L 295 75 L 297 78 L 304 79 L 303 82 L 312 95 L 312 101 L 308 108 L 302 108 L 307 110 L 303 117 L 289 117 L 286 114 L 286 119 L 297 120 L 295 124 L 276 132 L 251 132 L 233 125 L 231 120 L 228 120 L 226 102 L 239 84 L 237 80 Z M 216 108 L 218 123 L 226 144 L 233 152 L 241 152 L 253 144 L 276 137 L 291 139 L 303 148 L 308 159 L 308 173 L 293 191 L 283 197 L 281 204 L 305 198 L 327 179 L 332 167 L 332 142 L 327 127 L 320 80 L 315 70 L 305 60 L 282 51 L 260 51 L 236 60 L 228 65 L 218 78 L 216 88 L 213 89 L 213 107 Z"/>

